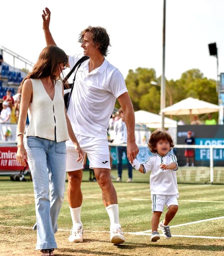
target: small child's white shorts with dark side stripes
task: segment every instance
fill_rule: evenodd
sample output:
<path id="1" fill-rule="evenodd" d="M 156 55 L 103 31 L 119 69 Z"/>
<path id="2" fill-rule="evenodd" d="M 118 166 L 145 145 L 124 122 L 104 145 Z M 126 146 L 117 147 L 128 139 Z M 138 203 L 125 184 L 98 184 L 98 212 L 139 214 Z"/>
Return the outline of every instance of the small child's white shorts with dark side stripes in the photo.
<path id="1" fill-rule="evenodd" d="M 179 194 L 176 195 L 151 195 L 152 199 L 152 212 L 163 212 L 164 206 L 167 209 L 171 205 L 178 205 L 177 198 Z"/>

